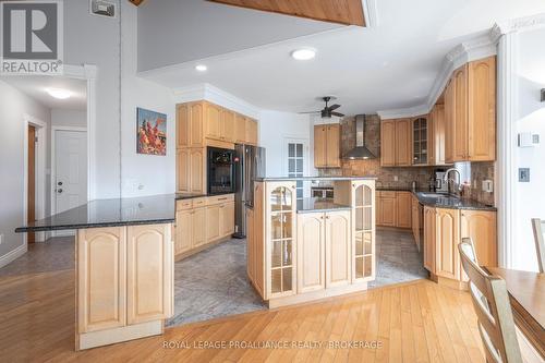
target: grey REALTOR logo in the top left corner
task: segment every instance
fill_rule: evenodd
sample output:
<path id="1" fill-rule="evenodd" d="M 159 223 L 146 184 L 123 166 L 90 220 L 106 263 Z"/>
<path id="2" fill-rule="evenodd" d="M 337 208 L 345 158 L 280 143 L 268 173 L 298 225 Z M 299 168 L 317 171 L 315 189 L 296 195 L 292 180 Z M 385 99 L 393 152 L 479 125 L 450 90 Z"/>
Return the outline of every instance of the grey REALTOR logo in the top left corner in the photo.
<path id="1" fill-rule="evenodd" d="M 0 20 L 0 73 L 62 73 L 62 1 L 2 1 Z"/>

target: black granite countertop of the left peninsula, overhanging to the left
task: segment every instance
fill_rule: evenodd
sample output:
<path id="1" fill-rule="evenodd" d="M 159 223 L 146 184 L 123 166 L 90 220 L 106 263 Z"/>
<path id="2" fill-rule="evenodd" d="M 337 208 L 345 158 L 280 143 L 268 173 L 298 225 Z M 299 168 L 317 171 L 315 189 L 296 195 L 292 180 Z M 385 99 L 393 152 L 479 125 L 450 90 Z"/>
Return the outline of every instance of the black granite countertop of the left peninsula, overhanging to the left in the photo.
<path id="1" fill-rule="evenodd" d="M 15 229 L 40 232 L 82 228 L 172 223 L 175 220 L 174 194 L 97 199 Z"/>

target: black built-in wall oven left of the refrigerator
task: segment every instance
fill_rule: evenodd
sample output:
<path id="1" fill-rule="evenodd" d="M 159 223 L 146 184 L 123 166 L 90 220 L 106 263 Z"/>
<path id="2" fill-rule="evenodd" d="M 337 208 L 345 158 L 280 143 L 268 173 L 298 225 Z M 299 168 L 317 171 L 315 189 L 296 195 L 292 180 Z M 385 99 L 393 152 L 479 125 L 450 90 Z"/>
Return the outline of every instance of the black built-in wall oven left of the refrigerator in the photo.
<path id="1" fill-rule="evenodd" d="M 207 148 L 208 194 L 234 193 L 234 150 Z"/>

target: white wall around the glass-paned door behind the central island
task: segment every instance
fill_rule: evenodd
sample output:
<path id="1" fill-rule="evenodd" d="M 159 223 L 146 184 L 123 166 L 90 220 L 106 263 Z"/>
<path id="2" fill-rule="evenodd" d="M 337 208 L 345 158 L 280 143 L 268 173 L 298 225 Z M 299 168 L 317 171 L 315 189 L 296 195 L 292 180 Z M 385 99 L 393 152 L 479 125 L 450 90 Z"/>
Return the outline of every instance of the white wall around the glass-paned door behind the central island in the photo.
<path id="1" fill-rule="evenodd" d="M 313 130 L 307 114 L 279 111 L 262 111 L 259 119 L 259 145 L 266 148 L 267 177 L 287 177 L 288 140 L 304 140 L 305 174 L 314 172 Z"/>

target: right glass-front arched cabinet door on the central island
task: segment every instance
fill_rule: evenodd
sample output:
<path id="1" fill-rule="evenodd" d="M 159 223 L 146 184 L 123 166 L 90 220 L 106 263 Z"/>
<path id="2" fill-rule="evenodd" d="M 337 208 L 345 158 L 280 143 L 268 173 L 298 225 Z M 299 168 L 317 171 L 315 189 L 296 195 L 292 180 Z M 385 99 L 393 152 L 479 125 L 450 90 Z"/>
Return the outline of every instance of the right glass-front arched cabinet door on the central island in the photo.
<path id="1" fill-rule="evenodd" d="M 352 182 L 352 281 L 375 279 L 375 181 Z"/>

